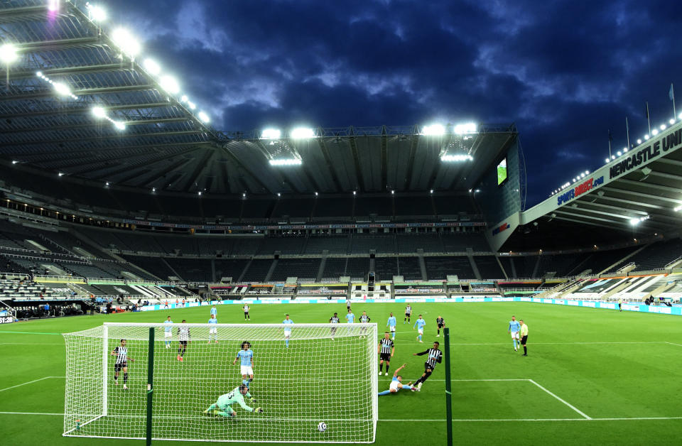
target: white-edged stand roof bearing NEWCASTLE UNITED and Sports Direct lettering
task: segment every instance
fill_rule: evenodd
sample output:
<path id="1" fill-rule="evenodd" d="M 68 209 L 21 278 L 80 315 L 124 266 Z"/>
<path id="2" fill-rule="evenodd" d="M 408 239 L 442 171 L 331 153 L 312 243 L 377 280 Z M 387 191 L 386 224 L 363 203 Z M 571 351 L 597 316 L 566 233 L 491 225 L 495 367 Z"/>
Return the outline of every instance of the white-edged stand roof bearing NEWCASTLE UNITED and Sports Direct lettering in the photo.
<path id="1" fill-rule="evenodd" d="M 635 237 L 678 232 L 682 228 L 682 121 L 574 180 L 522 212 L 518 220 L 522 228 L 507 246 L 519 246 L 519 237 L 533 232 L 529 225 L 554 227 L 553 234 L 566 234 L 561 228 L 567 224 Z M 509 221 L 512 231 L 515 223 Z M 493 239 L 505 229 L 494 232 Z M 568 242 L 579 245 L 581 240 Z"/>

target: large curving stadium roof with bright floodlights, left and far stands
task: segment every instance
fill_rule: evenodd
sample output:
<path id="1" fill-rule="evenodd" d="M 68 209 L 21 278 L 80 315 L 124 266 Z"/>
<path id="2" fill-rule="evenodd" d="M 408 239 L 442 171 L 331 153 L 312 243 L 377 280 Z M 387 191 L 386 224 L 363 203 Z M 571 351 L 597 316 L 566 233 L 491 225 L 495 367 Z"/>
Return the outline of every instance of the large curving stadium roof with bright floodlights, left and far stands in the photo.
<path id="1" fill-rule="evenodd" d="M 217 131 L 134 38 L 100 28 L 85 2 L 53 3 L 0 4 L 0 40 L 18 55 L 0 88 L 6 165 L 173 192 L 466 190 L 516 138 L 513 124 Z"/>

